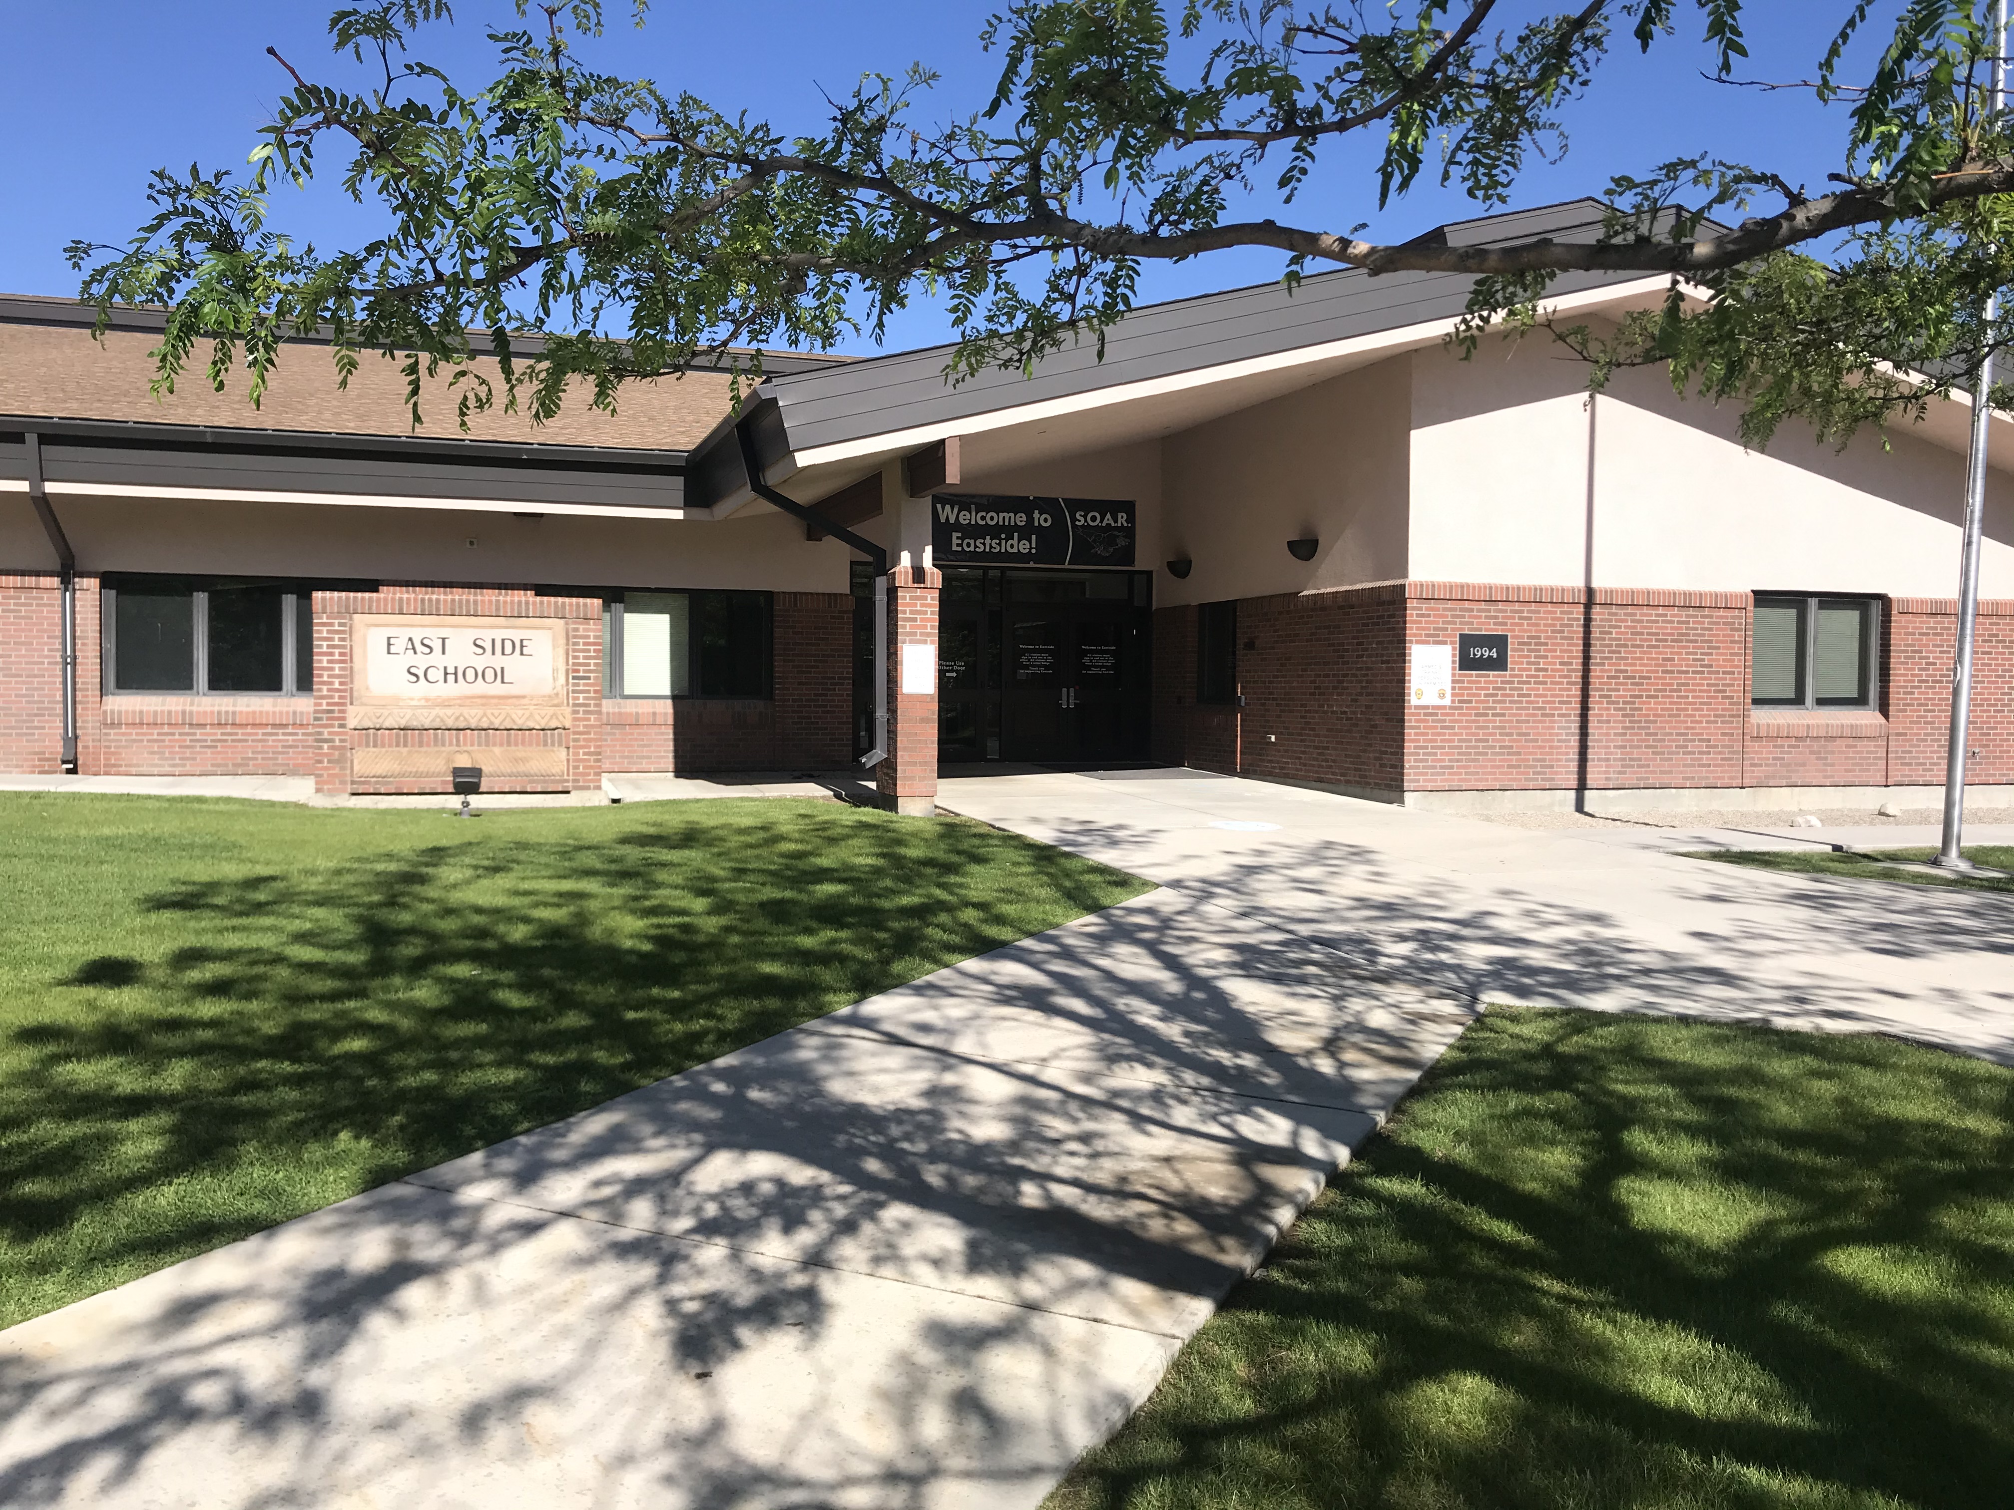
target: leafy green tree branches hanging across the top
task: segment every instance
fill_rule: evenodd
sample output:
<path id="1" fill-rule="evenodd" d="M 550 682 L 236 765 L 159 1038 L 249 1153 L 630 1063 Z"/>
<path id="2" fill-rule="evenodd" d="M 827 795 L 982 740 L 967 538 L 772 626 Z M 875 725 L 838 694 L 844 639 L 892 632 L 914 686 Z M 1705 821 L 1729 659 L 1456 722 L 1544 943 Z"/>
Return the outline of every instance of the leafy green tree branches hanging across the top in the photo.
<path id="1" fill-rule="evenodd" d="M 1595 242 L 1450 248 L 1347 225 L 1422 175 L 1508 203 L 1535 153 L 1565 149 L 1571 107 L 1617 46 L 1676 52 L 1676 30 L 1698 26 L 1708 72 L 1754 83 L 1736 79 L 1742 2 L 1015 0 L 985 26 L 1001 70 L 977 113 L 926 119 L 937 81 L 912 66 L 834 101 L 822 135 L 785 137 L 590 66 L 600 0 L 516 0 L 479 87 L 417 54 L 451 20 L 447 0 L 369 0 L 330 18 L 356 83 L 314 83 L 268 48 L 292 91 L 250 175 L 163 169 L 129 246 L 79 242 L 70 260 L 105 308 L 169 306 L 157 387 L 207 350 L 213 383 L 250 368 L 256 403 L 282 340 L 324 328 L 342 376 L 363 352 L 405 354 L 415 423 L 423 372 L 451 370 L 463 419 L 491 403 L 544 419 L 578 381 L 612 407 L 622 381 L 729 346 L 878 332 L 918 290 L 949 298 L 957 372 L 1029 366 L 1100 338 L 1144 264 L 1225 248 L 1275 248 L 1289 280 L 1472 274 L 1470 342 L 1547 324 L 1561 272 L 1670 274 L 1662 310 L 1553 328 L 1593 383 L 1664 362 L 1682 391 L 1738 399 L 1752 443 L 1790 415 L 1843 439 L 1919 411 L 2010 334 L 1982 314 L 2014 274 L 2014 155 L 1984 87 L 1984 12 L 1841 0 L 1815 14 L 1811 79 L 1762 87 L 1841 111 L 1839 171 L 1819 191 L 1702 151 L 1617 177 Z M 1877 28 L 1871 68 L 1845 79 Z M 1351 141 L 1376 147 L 1363 205 L 1235 217 L 1261 179 L 1299 213 L 1317 159 Z M 385 230 L 352 250 L 296 246 L 270 223 L 272 191 L 338 155 L 342 187 L 377 201 Z M 544 340 L 526 348 L 522 332 Z M 495 385 L 467 364 L 491 348 Z"/>

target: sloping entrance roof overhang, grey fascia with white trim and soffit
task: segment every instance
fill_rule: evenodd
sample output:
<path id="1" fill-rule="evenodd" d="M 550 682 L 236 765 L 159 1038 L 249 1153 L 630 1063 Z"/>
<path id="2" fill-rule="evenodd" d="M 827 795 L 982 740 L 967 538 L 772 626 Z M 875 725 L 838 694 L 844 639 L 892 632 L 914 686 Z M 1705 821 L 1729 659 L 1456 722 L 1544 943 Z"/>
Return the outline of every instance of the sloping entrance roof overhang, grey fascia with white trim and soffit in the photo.
<path id="1" fill-rule="evenodd" d="M 1575 199 L 1442 225 L 1422 240 L 1593 242 L 1601 221 L 1599 201 Z M 1134 310 L 1106 330 L 1102 358 L 1096 342 L 1082 342 L 1045 356 L 1033 374 L 987 370 L 955 383 L 955 346 L 777 374 L 693 449 L 685 501 L 715 517 L 755 501 L 737 429 L 753 441 L 761 481 L 814 505 L 886 461 L 951 439 L 963 447 L 967 473 L 1158 439 L 1438 346 L 1456 330 L 1472 286 L 1464 274 L 1349 268 Z M 1656 306 L 1668 288 L 1664 276 L 1561 274 L 1547 302 L 1573 316 L 1621 314 Z M 1964 451 L 1968 409 L 1962 397 L 1931 405 L 1913 433 Z"/>

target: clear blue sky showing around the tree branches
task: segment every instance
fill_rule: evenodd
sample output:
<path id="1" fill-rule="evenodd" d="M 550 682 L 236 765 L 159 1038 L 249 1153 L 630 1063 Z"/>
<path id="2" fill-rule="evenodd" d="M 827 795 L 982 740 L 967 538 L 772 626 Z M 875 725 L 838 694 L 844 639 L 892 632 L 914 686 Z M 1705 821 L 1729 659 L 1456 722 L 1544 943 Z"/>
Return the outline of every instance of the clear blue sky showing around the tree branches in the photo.
<path id="1" fill-rule="evenodd" d="M 1513 12 L 1557 8 L 1515 4 Z M 622 0 L 614 0 L 618 10 Z M 70 238 L 121 242 L 145 217 L 149 169 L 242 165 L 280 97 L 278 46 L 310 79 L 340 79 L 328 54 L 330 0 L 64 0 L 8 6 L 8 87 L 0 91 L 0 292 L 75 294 L 62 260 Z M 747 109 L 785 127 L 816 127 L 820 91 L 844 93 L 864 70 L 898 72 L 912 60 L 945 74 L 937 115 L 965 115 L 991 93 L 995 62 L 979 46 L 991 6 L 912 0 L 769 0 L 765 6 L 657 0 L 644 30 L 612 26 L 598 44 L 606 66 L 691 89 L 723 109 Z M 1843 0 L 1754 0 L 1750 77 L 1809 79 Z M 1887 12 L 1889 6 L 1877 6 Z M 487 79 L 483 24 L 512 14 L 501 0 L 463 0 L 457 24 L 419 48 L 457 79 Z M 1809 93 L 1762 93 L 1708 83 L 1700 20 L 1686 6 L 1680 34 L 1635 54 L 1619 48 L 1591 95 L 1569 109 L 1571 151 L 1523 181 L 1519 203 L 1595 193 L 1617 171 L 1712 151 L 1776 167 L 1811 189 L 1839 167 L 1845 113 Z M 1267 195 L 1241 213 L 1275 213 Z M 1386 211 L 1376 207 L 1363 157 L 1329 161 L 1301 199 L 1277 211 L 1299 223 L 1404 240 L 1478 213 L 1432 183 Z M 300 240 L 336 244 L 365 230 L 361 211 L 330 185 L 276 195 L 274 223 Z M 1148 270 L 1140 302 L 1277 278 L 1273 252 L 1227 252 Z M 898 316 L 888 346 L 943 340 L 941 310 Z M 846 350 L 874 350 L 856 340 Z"/>

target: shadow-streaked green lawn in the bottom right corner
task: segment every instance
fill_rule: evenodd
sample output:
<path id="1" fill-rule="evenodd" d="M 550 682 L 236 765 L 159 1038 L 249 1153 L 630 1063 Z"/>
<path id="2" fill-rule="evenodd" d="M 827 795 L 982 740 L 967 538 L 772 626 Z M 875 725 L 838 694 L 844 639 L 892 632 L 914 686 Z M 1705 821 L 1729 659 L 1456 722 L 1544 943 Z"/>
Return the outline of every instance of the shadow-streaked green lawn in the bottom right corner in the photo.
<path id="1" fill-rule="evenodd" d="M 2014 1071 L 1490 1011 L 1049 1510 L 2014 1502 Z"/>

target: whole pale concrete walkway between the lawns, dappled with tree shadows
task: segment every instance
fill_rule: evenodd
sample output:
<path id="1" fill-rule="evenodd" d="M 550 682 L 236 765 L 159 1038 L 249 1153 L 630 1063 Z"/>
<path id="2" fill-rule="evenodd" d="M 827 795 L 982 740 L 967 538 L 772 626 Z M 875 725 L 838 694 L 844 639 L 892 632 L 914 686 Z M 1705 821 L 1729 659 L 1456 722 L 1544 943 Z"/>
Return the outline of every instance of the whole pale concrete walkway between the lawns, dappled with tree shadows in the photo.
<path id="1" fill-rule="evenodd" d="M 1031 1510 L 1474 1011 L 2014 1061 L 2014 906 L 1194 773 L 1162 890 L 0 1333 L 6 1506 Z"/>

